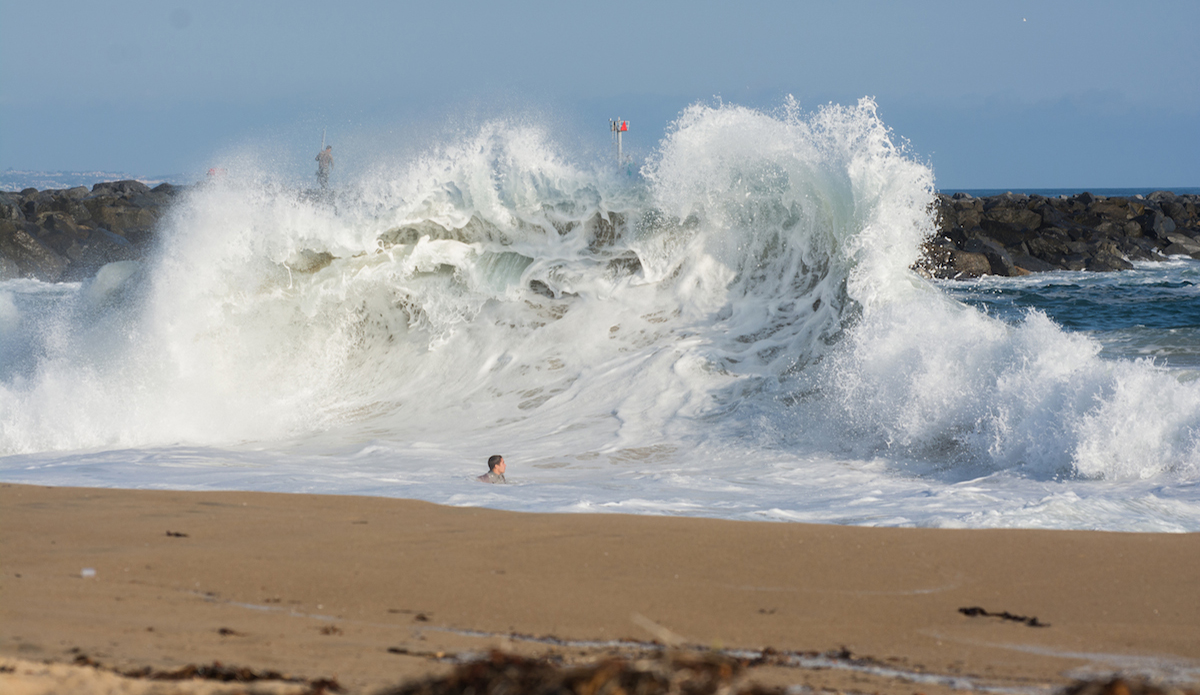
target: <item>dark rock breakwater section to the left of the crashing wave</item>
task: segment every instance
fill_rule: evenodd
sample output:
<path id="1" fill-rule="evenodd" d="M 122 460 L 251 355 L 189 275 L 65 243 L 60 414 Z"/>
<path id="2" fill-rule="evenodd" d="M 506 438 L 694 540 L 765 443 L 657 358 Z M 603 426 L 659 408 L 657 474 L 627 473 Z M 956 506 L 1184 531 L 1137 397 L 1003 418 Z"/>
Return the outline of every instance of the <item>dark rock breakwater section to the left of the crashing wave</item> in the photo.
<path id="1" fill-rule="evenodd" d="M 0 192 L 0 280 L 78 281 L 107 263 L 139 259 L 181 190 L 110 181 Z"/>

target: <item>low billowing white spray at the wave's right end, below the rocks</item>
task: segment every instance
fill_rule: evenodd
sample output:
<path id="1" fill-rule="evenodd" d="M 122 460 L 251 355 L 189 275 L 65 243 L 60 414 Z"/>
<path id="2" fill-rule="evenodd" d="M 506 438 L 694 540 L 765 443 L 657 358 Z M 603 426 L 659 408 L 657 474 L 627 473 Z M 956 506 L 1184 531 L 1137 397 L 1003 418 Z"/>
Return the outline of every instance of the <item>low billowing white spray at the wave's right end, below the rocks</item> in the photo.
<path id="1" fill-rule="evenodd" d="M 928 296 L 865 312 L 822 375 L 858 455 L 961 480 L 1195 479 L 1200 389 L 1039 311 L 1004 323 Z"/>

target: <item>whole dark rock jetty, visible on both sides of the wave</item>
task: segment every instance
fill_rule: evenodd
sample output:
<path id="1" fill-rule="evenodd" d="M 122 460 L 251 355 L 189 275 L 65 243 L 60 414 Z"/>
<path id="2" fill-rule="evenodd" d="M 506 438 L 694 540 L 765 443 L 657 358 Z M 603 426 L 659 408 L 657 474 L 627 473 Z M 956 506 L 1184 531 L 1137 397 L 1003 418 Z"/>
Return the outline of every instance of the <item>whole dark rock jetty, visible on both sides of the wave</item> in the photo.
<path id="1" fill-rule="evenodd" d="M 78 281 L 136 260 L 180 186 L 139 181 L 56 191 L 0 192 L 0 280 Z M 937 194 L 937 227 L 914 269 L 929 277 L 1109 271 L 1169 256 L 1200 259 L 1200 196 L 1080 193 Z"/>

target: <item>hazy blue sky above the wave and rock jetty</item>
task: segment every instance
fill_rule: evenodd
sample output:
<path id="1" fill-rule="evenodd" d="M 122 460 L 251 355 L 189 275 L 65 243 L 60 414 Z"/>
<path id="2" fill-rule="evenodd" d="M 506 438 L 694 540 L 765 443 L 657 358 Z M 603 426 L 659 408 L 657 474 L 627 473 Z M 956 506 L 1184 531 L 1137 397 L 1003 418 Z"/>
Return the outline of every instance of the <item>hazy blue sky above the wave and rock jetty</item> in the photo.
<path id="1" fill-rule="evenodd" d="M 696 101 L 874 96 L 938 186 L 1200 186 L 1200 1 L 0 0 L 0 169 L 340 172 L 492 116 L 654 149 Z M 440 128 L 440 130 L 439 130 Z M 440 133 L 438 136 L 437 133 Z"/>

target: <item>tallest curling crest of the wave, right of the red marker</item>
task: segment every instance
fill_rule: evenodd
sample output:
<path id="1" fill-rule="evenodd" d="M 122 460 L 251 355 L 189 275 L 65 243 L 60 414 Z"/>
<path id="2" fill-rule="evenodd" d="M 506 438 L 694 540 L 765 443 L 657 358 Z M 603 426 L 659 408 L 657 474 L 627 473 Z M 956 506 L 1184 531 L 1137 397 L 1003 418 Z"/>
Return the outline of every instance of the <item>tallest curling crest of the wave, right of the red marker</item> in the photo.
<path id="1" fill-rule="evenodd" d="M 676 126 L 646 178 L 656 212 L 692 223 L 691 264 L 730 274 L 716 317 L 732 338 L 720 346 L 726 363 L 794 370 L 858 305 L 911 281 L 931 229 L 932 174 L 895 150 L 872 102 L 811 119 L 791 102 L 779 116 L 692 107 Z M 658 244 L 640 253 L 652 268 L 679 263 Z"/>

